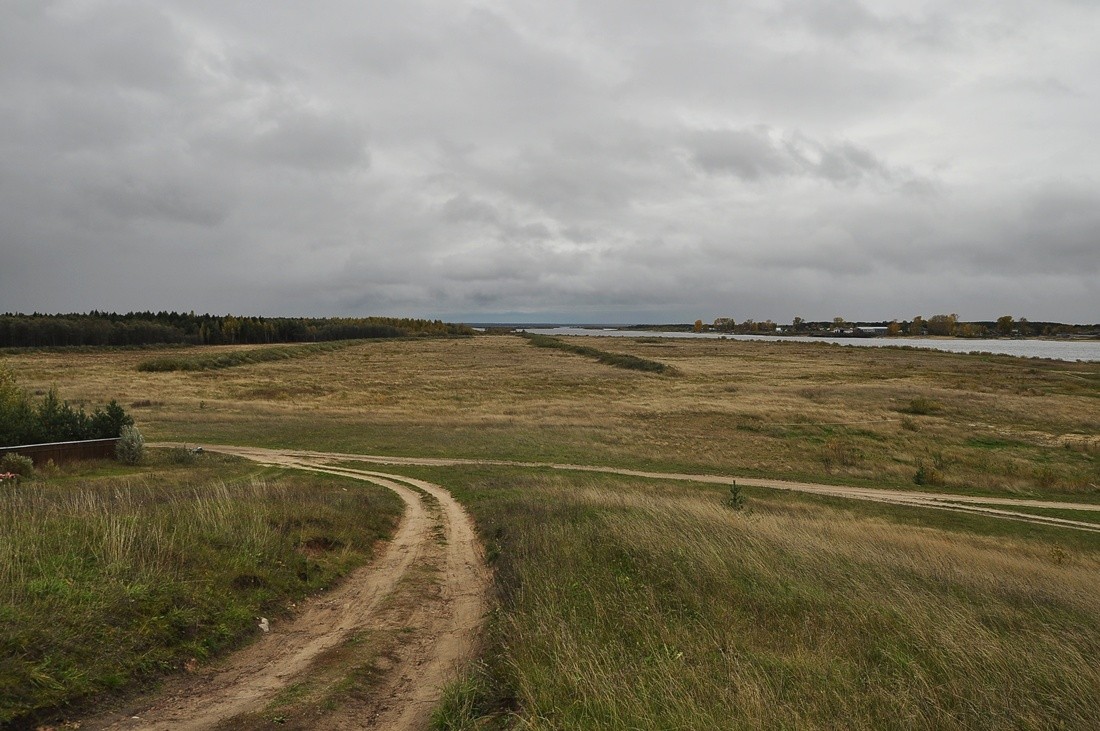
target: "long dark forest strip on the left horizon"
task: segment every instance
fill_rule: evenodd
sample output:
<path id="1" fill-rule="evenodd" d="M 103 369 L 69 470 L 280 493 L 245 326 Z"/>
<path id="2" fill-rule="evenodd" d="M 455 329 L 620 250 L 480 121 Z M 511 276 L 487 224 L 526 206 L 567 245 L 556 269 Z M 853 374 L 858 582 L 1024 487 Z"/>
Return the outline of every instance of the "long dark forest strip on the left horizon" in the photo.
<path id="1" fill-rule="evenodd" d="M 463 324 L 411 318 L 263 318 L 194 312 L 91 311 L 0 314 L 0 347 L 73 345 L 262 345 L 334 340 L 472 335 Z"/>

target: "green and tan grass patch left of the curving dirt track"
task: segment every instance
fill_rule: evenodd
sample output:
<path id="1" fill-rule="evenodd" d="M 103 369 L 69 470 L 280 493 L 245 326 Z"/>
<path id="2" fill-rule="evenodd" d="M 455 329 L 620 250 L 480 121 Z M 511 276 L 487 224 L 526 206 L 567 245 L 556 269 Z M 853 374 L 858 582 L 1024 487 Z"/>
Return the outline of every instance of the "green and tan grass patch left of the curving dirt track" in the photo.
<path id="1" fill-rule="evenodd" d="M 400 501 L 202 455 L 0 490 L 0 727 L 34 728 L 257 635 L 370 560 Z"/>

